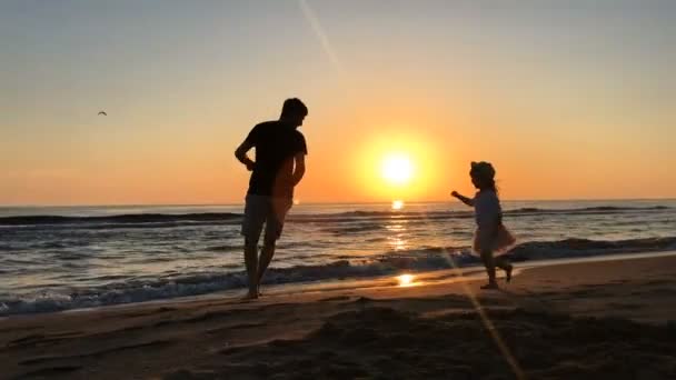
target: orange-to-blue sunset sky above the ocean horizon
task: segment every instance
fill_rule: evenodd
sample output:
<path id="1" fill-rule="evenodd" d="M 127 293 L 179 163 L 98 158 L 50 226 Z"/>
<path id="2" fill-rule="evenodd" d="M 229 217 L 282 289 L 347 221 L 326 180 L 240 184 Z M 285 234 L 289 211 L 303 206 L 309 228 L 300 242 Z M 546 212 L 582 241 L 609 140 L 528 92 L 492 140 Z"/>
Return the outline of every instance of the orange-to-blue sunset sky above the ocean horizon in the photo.
<path id="1" fill-rule="evenodd" d="M 300 202 L 676 198 L 673 1 L 7 0 L 0 47 L 0 204 L 240 203 L 290 97 Z"/>

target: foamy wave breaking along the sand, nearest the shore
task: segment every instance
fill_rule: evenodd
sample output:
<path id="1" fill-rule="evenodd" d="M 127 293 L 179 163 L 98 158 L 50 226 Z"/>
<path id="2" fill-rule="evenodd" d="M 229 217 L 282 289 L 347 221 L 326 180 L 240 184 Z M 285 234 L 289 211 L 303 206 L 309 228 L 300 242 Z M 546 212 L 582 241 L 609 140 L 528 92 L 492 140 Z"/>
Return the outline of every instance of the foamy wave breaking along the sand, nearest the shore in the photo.
<path id="1" fill-rule="evenodd" d="M 507 254 L 515 261 L 527 261 L 673 249 L 676 249 L 676 237 L 618 241 L 564 239 L 524 242 Z M 266 273 L 264 282 L 267 284 L 282 284 L 374 278 L 398 274 L 404 271 L 433 271 L 479 264 L 479 259 L 471 254 L 467 247 L 427 247 L 386 252 L 377 257 L 344 259 L 327 264 L 271 268 Z M 0 316 L 51 312 L 198 296 L 239 289 L 243 288 L 245 284 L 246 273 L 239 271 L 188 274 L 180 278 L 127 280 L 97 288 L 79 289 L 68 294 L 41 292 L 23 297 L 0 296 Z"/>

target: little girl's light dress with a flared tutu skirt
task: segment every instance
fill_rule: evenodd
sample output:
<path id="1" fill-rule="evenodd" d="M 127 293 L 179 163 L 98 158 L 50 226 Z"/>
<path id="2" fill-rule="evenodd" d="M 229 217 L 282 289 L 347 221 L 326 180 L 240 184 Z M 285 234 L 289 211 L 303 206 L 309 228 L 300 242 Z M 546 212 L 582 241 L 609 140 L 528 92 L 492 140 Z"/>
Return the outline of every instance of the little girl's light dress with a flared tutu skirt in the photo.
<path id="1" fill-rule="evenodd" d="M 471 249 L 480 254 L 481 249 L 490 248 L 494 256 L 507 253 L 516 243 L 515 237 L 503 224 L 500 200 L 493 190 L 483 190 L 474 198 L 477 230 Z"/>

